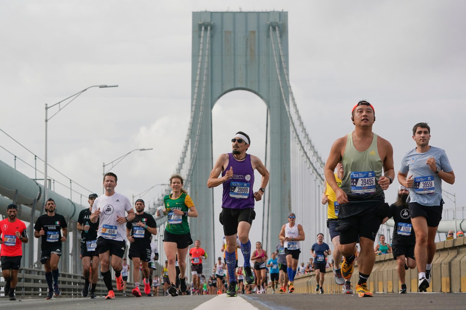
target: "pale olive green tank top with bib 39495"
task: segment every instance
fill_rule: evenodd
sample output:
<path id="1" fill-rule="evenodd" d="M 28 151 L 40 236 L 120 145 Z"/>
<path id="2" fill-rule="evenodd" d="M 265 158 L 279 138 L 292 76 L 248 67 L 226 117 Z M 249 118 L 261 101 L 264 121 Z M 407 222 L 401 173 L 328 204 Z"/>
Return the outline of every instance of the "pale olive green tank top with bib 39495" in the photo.
<path id="1" fill-rule="evenodd" d="M 344 175 L 341 189 L 348 195 L 349 201 L 367 201 L 368 198 L 377 197 L 384 192 L 377 183 L 382 176 L 383 162 L 378 154 L 375 133 L 369 148 L 359 152 L 353 144 L 353 135 L 350 132 L 342 164 Z"/>

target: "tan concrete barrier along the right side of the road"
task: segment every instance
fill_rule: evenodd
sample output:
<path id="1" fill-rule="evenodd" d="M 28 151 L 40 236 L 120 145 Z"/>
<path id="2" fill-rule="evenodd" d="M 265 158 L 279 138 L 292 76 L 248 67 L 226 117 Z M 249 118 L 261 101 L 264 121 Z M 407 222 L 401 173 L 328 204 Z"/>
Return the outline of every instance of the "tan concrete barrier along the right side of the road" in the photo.
<path id="1" fill-rule="evenodd" d="M 436 243 L 434 259 L 432 260 L 432 282 L 429 292 L 457 293 L 466 292 L 466 237 L 445 240 Z M 351 277 L 353 290 L 356 288 L 359 272 L 357 260 Z M 295 278 L 296 293 L 315 293 L 315 272 Z M 397 261 L 393 254 L 376 257 L 376 263 L 368 279 L 369 289 L 373 292 L 397 292 L 401 286 L 397 273 Z M 406 288 L 410 292 L 418 291 L 417 268 L 406 270 Z M 331 268 L 327 269 L 323 285 L 325 294 L 341 294 L 343 286 L 336 285 Z M 268 290 L 271 293 L 272 290 Z"/>

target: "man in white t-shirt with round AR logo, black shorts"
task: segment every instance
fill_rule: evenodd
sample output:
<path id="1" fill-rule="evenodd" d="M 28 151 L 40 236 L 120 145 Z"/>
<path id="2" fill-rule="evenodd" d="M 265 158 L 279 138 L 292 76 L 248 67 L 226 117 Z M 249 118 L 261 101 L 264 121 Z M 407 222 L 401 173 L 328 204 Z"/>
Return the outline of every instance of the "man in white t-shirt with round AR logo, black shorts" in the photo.
<path id="1" fill-rule="evenodd" d="M 115 192 L 117 181 L 118 178 L 115 173 L 105 173 L 103 176 L 105 194 L 96 198 L 90 216 L 92 223 L 99 221 L 96 251 L 99 253 L 100 258 L 100 273 L 107 290 L 109 290 L 105 299 L 115 299 L 110 265 L 115 271 L 117 290 L 123 290 L 124 288 L 121 263 L 126 250 L 125 223 L 135 217 L 130 199 Z M 125 212 L 128 213 L 127 216 Z"/>

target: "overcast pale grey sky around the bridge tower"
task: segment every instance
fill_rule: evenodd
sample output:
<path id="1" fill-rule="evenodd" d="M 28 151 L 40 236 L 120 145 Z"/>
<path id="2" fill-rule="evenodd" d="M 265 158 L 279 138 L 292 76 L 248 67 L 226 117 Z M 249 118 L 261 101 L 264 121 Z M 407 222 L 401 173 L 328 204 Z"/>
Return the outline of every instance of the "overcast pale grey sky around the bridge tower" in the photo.
<path id="1" fill-rule="evenodd" d="M 131 197 L 166 183 L 189 121 L 192 11 L 227 9 L 288 11 L 291 84 L 324 159 L 333 141 L 354 128 L 351 107 L 366 99 L 376 110 L 374 132 L 393 145 L 395 171 L 415 146 L 412 126 L 429 123 L 431 145 L 445 149 L 457 177 L 443 188 L 457 194 L 458 207 L 465 205 L 464 1 L 2 1 L 0 128 L 43 158 L 45 103 L 118 84 L 90 89 L 50 120 L 49 163 L 101 194 L 103 162 L 154 148 L 132 153 L 112 170 L 117 191 Z M 229 151 L 225 137 L 237 128 L 226 128 L 222 117 L 238 107 L 257 113 L 235 125 L 253 132 L 251 153 L 264 154 L 265 105 L 251 93 L 232 92 L 212 111 L 214 160 Z M 34 165 L 34 156 L 1 132 L 0 145 Z M 0 160 L 13 166 L 13 159 L 0 149 Z M 17 167 L 34 178 L 33 169 Z M 69 197 L 68 189 L 55 189 Z M 444 207 L 453 204 L 445 199 Z M 260 234 L 259 222 L 253 232 Z"/>

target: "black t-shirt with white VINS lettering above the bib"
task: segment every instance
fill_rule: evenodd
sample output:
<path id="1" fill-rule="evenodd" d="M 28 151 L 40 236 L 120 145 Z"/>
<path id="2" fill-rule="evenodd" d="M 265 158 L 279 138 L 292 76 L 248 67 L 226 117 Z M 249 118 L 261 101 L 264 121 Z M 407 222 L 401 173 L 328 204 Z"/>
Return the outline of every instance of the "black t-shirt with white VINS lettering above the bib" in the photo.
<path id="1" fill-rule="evenodd" d="M 41 228 L 43 228 L 45 231 L 45 234 L 41 236 L 41 249 L 48 249 L 57 245 L 61 246 L 62 228 L 67 227 L 65 218 L 57 213 L 53 217 L 44 214 L 37 218 L 34 230 L 41 231 Z"/>

